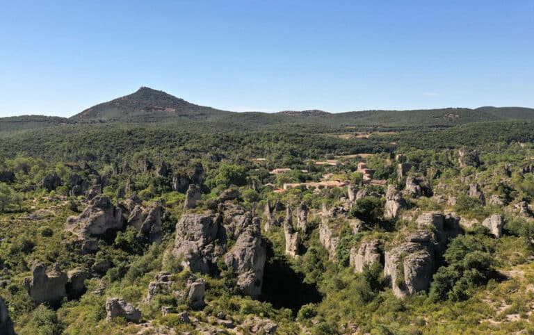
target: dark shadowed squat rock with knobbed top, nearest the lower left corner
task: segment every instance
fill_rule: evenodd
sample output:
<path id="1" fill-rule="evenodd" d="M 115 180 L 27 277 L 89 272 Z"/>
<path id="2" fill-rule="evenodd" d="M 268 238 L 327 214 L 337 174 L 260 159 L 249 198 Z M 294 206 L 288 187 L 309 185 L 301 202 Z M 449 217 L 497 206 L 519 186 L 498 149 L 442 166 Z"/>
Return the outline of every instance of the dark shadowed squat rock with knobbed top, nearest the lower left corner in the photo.
<path id="1" fill-rule="evenodd" d="M 65 285 L 69 280 L 67 274 L 60 270 L 57 264 L 52 266 L 51 272 L 42 263 L 34 263 L 31 267 L 32 278 L 24 279 L 24 286 L 33 302 L 40 304 L 48 302 L 57 307 L 64 297 L 67 297 Z"/>

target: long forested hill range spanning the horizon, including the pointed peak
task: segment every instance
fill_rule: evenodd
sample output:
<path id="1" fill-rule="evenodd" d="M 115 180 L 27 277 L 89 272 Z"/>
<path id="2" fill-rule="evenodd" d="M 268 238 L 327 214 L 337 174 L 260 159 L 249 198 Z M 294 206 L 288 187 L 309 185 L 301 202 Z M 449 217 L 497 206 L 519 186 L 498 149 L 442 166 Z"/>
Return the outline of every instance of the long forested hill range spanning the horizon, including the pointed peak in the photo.
<path id="1" fill-rule="evenodd" d="M 313 125 L 314 127 L 369 127 L 382 126 L 390 129 L 423 127 L 449 127 L 473 122 L 534 119 L 533 108 L 480 107 L 441 108 L 414 111 L 352 111 L 327 113 L 325 111 L 282 111 L 280 113 L 222 111 L 199 106 L 160 90 L 140 88 L 131 95 L 92 106 L 70 119 L 60 117 L 23 116 L 0 118 L 0 131 L 35 129 L 42 126 L 69 123 L 102 122 L 208 122 L 227 126 L 252 126 L 265 129 L 278 125 Z"/>

